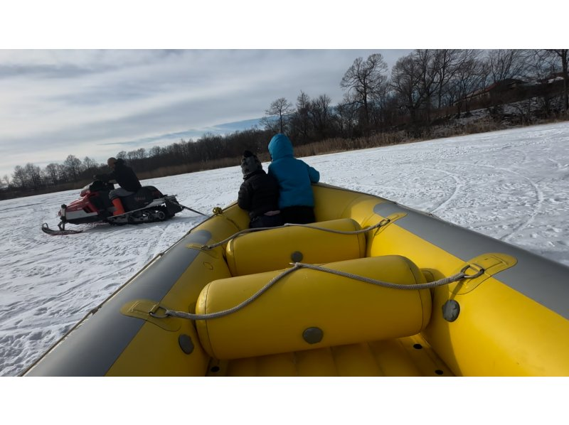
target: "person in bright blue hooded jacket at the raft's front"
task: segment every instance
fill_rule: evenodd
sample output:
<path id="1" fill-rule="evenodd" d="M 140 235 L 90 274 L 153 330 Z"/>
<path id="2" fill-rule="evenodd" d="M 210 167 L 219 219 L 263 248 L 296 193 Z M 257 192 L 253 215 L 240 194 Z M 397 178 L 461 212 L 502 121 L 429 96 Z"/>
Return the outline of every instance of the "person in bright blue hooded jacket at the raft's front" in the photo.
<path id="1" fill-rule="evenodd" d="M 316 221 L 312 183 L 318 183 L 320 173 L 304 161 L 294 158 L 292 143 L 285 134 L 272 137 L 269 154 L 269 175 L 279 183 L 282 222 L 304 224 Z"/>

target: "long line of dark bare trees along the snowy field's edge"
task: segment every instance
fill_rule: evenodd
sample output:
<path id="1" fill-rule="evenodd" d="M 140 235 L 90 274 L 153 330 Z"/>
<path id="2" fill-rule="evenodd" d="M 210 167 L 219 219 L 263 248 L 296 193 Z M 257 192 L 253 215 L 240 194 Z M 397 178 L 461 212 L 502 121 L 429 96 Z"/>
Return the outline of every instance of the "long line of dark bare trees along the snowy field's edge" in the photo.
<path id="1" fill-rule="evenodd" d="M 514 99 L 511 91 L 510 98 L 504 88 L 497 91 L 504 82 L 521 83 L 518 87 L 523 90 L 518 88 L 518 93 L 534 99 L 542 117 L 567 117 L 568 49 L 418 49 L 399 58 L 390 70 L 381 53 L 356 58 L 339 78 L 344 97 L 338 104 L 332 104 L 326 94 L 310 97 L 301 91 L 294 103 L 285 97 L 275 99 L 260 125 L 251 129 L 224 136 L 203 134 L 196 141 L 181 139 L 116 156 L 124 158 L 141 178 L 150 178 L 232 166 L 245 149 L 267 161 L 267 143 L 277 132 L 286 133 L 295 146 L 394 131 L 418 137 L 428 134 L 442 117 L 469 114 L 480 107 L 495 112 L 504 101 Z M 487 96 L 481 96 L 487 87 L 494 87 L 498 95 L 487 91 Z M 0 188 L 4 198 L 65 190 L 105 171 L 105 164 L 88 156 L 81 160 L 69 155 L 63 163 L 43 169 L 33 163 L 16 166 L 11 178 L 0 179 Z"/>

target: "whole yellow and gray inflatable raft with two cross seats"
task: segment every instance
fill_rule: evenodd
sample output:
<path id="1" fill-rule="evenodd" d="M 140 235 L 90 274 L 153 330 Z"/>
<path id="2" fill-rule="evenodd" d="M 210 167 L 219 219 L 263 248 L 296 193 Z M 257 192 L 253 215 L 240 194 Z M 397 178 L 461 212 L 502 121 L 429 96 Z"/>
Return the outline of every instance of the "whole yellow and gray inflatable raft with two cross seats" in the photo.
<path id="1" fill-rule="evenodd" d="M 568 267 L 313 189 L 311 225 L 217 209 L 24 375 L 569 375 Z"/>

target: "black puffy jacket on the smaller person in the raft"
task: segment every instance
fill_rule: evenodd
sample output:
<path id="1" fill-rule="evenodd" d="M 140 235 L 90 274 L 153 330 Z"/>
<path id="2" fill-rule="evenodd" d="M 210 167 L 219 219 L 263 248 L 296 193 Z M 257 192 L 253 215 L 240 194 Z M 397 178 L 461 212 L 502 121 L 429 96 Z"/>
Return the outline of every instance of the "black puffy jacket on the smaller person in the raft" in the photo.
<path id="1" fill-rule="evenodd" d="M 279 183 L 264 170 L 248 174 L 239 188 L 237 205 L 243 210 L 248 210 L 251 220 L 267 211 L 277 211 Z"/>

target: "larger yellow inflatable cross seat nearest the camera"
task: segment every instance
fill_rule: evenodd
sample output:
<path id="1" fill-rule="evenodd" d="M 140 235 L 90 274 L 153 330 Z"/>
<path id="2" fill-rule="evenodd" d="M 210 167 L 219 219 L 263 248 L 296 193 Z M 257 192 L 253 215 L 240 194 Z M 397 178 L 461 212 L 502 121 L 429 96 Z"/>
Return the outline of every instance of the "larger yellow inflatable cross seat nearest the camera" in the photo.
<path id="1" fill-rule="evenodd" d="M 323 267 L 395 284 L 424 284 L 413 262 L 390 255 Z M 281 271 L 218 279 L 198 297 L 196 313 L 233 308 Z M 428 289 L 391 289 L 314 269 L 298 269 L 238 311 L 196 321 L 209 355 L 220 360 L 399 338 L 420 333 L 431 316 Z"/>

